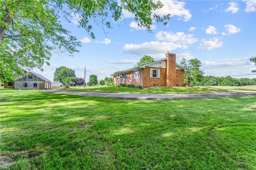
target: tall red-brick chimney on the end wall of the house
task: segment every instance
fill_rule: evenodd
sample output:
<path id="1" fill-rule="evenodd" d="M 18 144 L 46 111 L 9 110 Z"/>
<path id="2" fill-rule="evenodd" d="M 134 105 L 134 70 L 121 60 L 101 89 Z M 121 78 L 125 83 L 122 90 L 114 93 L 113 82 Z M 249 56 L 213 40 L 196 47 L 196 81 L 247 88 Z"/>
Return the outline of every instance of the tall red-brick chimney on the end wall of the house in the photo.
<path id="1" fill-rule="evenodd" d="M 166 53 L 166 86 L 175 87 L 176 81 L 176 54 Z"/>

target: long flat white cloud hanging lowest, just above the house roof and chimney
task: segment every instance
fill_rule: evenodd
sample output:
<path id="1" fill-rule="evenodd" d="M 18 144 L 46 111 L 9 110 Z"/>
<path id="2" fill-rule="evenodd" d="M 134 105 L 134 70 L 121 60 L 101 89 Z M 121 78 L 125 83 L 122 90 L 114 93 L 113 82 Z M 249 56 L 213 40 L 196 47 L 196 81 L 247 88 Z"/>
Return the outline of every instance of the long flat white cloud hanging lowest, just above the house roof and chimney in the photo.
<path id="1" fill-rule="evenodd" d="M 166 51 L 172 51 L 174 49 L 187 49 L 188 46 L 175 44 L 172 42 L 159 42 L 159 41 L 151 41 L 142 44 L 126 44 L 123 47 L 123 51 L 126 53 L 136 54 L 144 56 L 148 54 L 152 57 L 152 55 L 156 55 L 159 53 L 163 53 Z"/>

